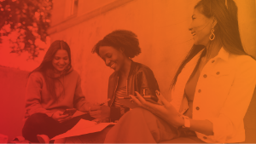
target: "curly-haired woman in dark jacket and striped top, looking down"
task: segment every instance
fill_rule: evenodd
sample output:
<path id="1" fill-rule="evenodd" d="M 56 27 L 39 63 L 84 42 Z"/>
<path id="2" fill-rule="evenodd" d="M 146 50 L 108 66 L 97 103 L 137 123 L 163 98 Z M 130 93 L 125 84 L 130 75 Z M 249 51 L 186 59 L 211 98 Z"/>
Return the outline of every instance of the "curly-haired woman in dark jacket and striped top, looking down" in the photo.
<path id="1" fill-rule="evenodd" d="M 120 100 L 135 95 L 135 91 L 141 95 L 151 95 L 150 99 L 157 101 L 154 91 L 159 90 L 159 87 L 154 73 L 148 66 L 131 60 L 141 53 L 135 33 L 125 30 L 113 31 L 96 43 L 92 52 L 96 52 L 105 61 L 106 66 L 114 70 L 108 81 L 108 107 L 102 106 L 101 110 L 90 112 L 92 117 L 110 118 L 112 122 L 118 120 L 130 110 L 122 105 Z"/>

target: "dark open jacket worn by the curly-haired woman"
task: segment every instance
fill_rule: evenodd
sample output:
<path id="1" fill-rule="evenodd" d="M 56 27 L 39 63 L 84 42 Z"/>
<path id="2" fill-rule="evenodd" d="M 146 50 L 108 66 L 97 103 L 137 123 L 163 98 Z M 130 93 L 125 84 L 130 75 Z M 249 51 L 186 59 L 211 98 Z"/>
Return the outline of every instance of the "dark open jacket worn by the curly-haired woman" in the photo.
<path id="1" fill-rule="evenodd" d="M 110 120 L 115 121 L 121 117 L 120 108 L 113 106 L 113 101 L 115 100 L 115 94 L 119 82 L 119 72 L 113 72 L 108 80 L 108 106 L 111 107 L 110 110 Z M 154 101 L 158 101 L 155 90 L 159 90 L 156 79 L 154 78 L 154 73 L 152 70 L 143 64 L 134 62 L 131 60 L 131 68 L 127 78 L 127 91 L 126 95 L 136 95 L 135 91 L 139 92 L 141 95 L 152 95 Z"/>

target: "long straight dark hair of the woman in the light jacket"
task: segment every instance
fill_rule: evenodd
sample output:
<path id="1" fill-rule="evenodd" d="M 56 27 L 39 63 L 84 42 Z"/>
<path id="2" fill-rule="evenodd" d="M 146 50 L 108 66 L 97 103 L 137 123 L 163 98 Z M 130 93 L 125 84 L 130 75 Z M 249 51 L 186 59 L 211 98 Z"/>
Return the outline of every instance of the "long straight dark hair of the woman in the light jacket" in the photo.
<path id="1" fill-rule="evenodd" d="M 227 5 L 225 5 L 225 0 L 201 0 L 195 5 L 195 9 L 199 9 L 201 14 L 204 14 L 207 18 L 214 17 L 217 20 L 217 24 L 214 27 L 214 34 L 216 37 L 219 37 L 226 51 L 234 55 L 247 55 L 241 44 L 237 20 L 237 7 L 233 0 L 227 0 Z M 205 47 L 202 45 L 193 45 L 189 54 L 177 69 L 172 80 L 171 89 L 176 84 L 177 76 L 183 70 L 183 67 L 204 48 Z M 206 53 L 206 50 L 204 53 Z M 195 69 L 199 65 L 200 60 L 198 60 Z"/>

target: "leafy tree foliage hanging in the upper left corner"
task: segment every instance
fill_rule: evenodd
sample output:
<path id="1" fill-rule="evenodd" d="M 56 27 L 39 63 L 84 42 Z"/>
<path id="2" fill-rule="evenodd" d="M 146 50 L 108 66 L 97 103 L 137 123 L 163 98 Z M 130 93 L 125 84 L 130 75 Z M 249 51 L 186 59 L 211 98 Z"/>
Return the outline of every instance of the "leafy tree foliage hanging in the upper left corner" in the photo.
<path id="1" fill-rule="evenodd" d="M 27 51 L 30 59 L 38 57 L 39 51 L 44 49 L 36 40 L 46 42 L 51 9 L 52 0 L 0 0 L 0 43 L 4 36 L 16 32 L 17 38 L 9 39 L 14 43 L 11 52 Z"/>

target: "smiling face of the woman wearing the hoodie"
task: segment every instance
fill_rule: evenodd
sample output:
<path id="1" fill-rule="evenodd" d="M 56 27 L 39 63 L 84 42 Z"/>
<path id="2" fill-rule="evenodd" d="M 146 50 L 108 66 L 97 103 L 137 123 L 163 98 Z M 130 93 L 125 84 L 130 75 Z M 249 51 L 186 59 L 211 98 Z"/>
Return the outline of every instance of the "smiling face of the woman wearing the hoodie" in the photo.
<path id="1" fill-rule="evenodd" d="M 63 72 L 69 63 L 70 60 L 67 54 L 67 50 L 64 49 L 59 49 L 55 53 L 55 57 L 52 60 L 52 66 L 54 66 L 55 70 L 58 72 Z"/>

